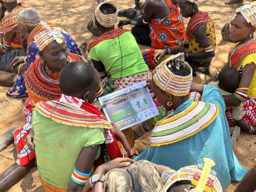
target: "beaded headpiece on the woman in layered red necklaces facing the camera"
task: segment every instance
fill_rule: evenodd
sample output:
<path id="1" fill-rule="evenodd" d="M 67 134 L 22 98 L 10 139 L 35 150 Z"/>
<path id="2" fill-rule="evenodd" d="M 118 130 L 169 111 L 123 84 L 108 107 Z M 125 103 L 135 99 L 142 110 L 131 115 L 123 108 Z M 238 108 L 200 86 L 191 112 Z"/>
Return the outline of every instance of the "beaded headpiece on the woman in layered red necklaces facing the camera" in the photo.
<path id="1" fill-rule="evenodd" d="M 62 38 L 64 38 L 59 27 L 44 27 L 45 29 L 43 31 L 34 36 L 34 40 L 40 51 L 54 40 L 56 40 L 58 44 L 61 44 L 63 42 Z"/>

